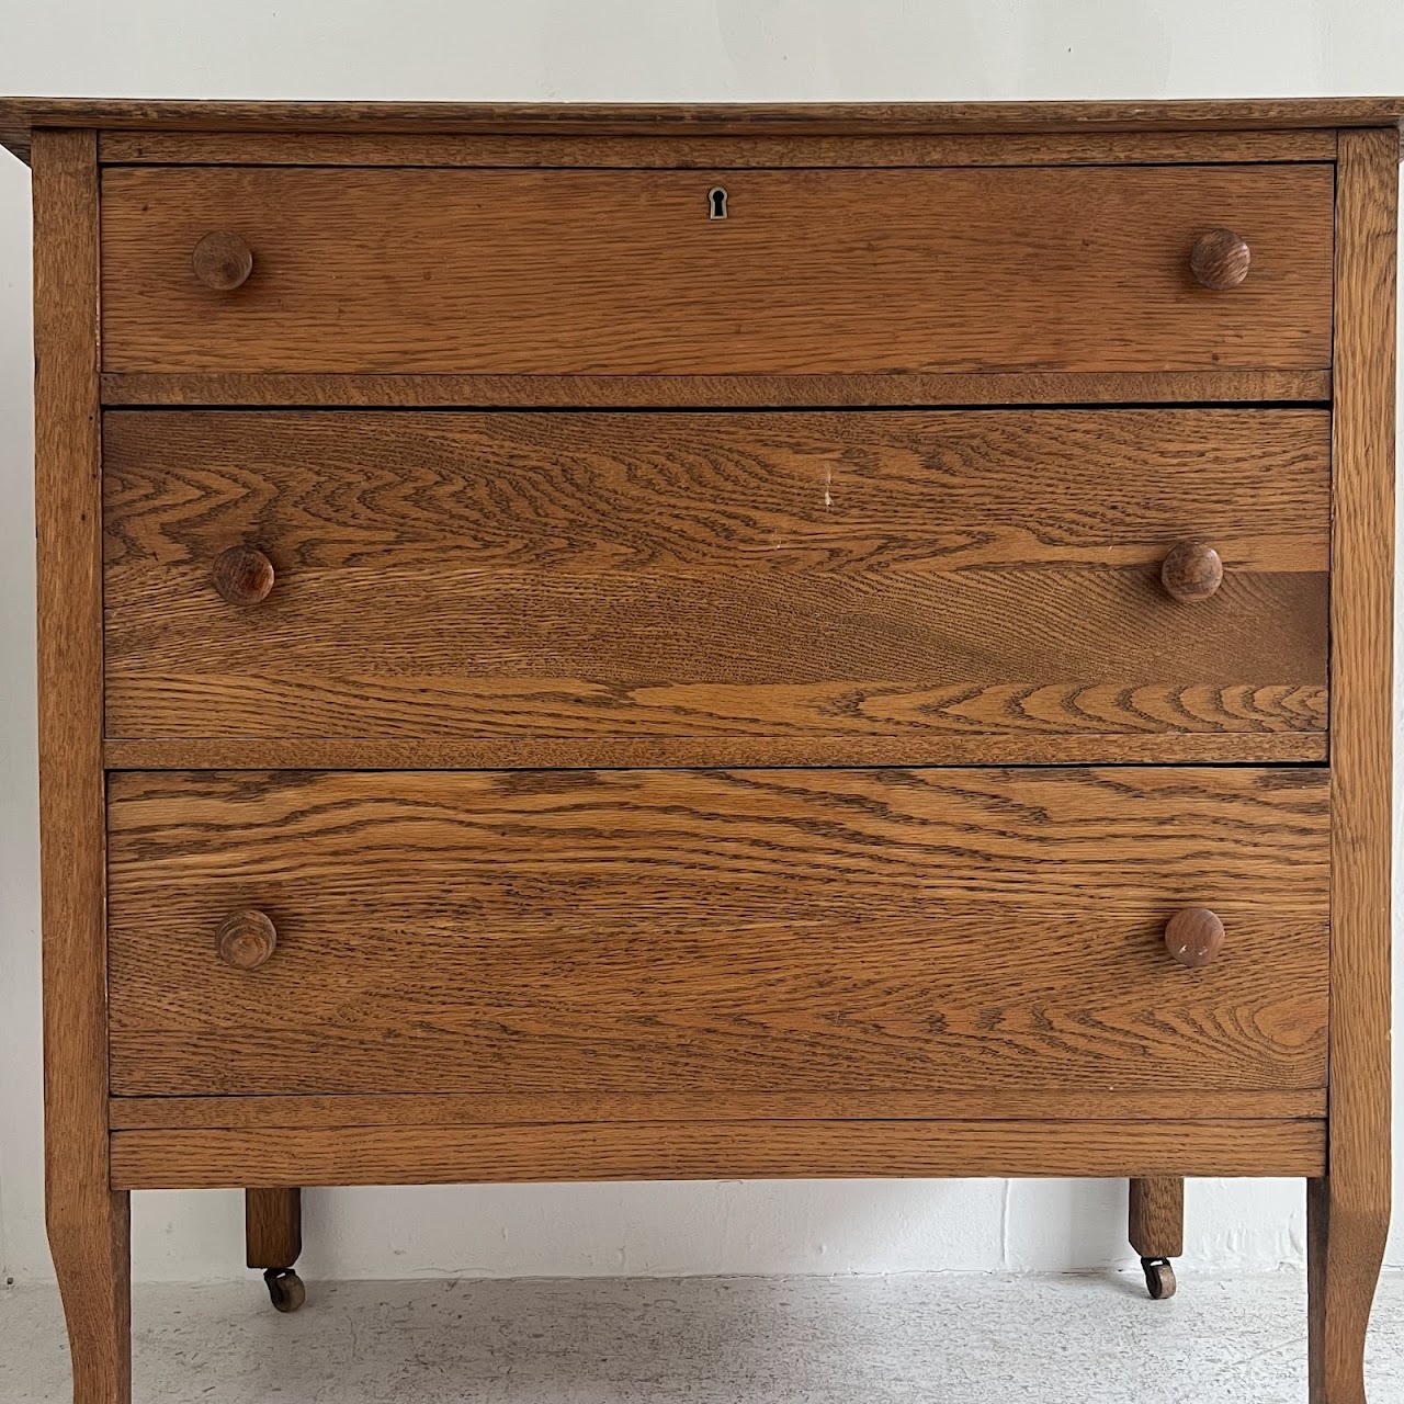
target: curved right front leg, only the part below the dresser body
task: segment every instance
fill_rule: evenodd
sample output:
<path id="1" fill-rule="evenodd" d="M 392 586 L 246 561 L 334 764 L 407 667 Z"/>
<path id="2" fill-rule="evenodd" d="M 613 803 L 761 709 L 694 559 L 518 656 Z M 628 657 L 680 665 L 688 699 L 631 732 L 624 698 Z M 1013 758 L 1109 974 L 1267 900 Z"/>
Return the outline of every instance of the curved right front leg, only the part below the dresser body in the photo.
<path id="1" fill-rule="evenodd" d="M 1311 1404 L 1365 1404 L 1365 1328 L 1389 1221 L 1387 1205 L 1352 1205 L 1330 1178 L 1307 1181 Z"/>

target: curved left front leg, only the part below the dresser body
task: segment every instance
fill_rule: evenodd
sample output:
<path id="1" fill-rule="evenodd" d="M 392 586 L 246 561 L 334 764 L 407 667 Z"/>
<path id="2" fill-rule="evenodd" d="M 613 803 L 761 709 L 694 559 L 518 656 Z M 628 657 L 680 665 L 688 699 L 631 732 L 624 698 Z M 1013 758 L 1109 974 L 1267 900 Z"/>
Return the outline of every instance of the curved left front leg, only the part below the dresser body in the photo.
<path id="1" fill-rule="evenodd" d="M 63 1297 L 73 1404 L 131 1404 L 129 1198 L 105 1188 L 48 1203 L 49 1251 Z"/>

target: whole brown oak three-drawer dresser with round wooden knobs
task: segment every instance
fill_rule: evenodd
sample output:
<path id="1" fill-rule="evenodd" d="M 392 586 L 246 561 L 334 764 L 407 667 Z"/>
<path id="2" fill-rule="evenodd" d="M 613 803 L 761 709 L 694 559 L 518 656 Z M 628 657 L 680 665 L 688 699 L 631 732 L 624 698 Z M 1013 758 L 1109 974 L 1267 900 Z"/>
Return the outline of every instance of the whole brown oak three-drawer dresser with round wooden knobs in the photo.
<path id="1" fill-rule="evenodd" d="M 823 1175 L 1302 1177 L 1360 1404 L 1401 112 L 0 104 L 79 1404 L 133 1189 Z"/>

